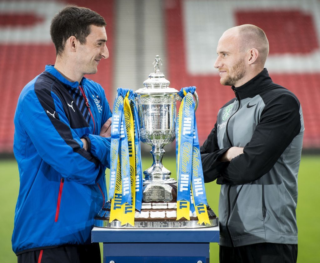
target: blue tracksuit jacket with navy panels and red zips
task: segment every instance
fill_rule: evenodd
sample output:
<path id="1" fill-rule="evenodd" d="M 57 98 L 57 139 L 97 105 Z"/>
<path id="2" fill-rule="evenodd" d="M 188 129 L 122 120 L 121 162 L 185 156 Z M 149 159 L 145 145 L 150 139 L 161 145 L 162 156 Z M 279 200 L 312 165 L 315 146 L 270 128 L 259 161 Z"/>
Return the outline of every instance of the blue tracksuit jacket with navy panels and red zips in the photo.
<path id="1" fill-rule="evenodd" d="M 70 82 L 51 65 L 24 87 L 14 115 L 20 173 L 12 234 L 16 254 L 91 242 L 93 217 L 107 196 L 111 139 L 99 133 L 109 117 L 99 84 L 86 78 L 80 85 Z"/>

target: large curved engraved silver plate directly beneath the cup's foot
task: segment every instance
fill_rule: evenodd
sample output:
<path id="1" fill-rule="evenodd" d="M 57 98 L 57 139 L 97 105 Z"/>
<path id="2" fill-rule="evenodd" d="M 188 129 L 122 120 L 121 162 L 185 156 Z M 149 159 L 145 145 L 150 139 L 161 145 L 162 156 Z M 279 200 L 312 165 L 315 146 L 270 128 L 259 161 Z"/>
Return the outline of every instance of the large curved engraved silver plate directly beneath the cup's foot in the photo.
<path id="1" fill-rule="evenodd" d="M 168 184 L 147 184 L 143 187 L 143 201 L 170 202 L 172 201 L 172 187 Z"/>

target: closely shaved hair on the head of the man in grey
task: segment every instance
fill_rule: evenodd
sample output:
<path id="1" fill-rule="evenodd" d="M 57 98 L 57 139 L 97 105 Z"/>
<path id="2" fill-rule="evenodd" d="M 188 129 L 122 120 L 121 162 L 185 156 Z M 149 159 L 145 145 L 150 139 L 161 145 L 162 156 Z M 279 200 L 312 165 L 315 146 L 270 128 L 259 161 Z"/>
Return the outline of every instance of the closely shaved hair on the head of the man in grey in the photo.
<path id="1" fill-rule="evenodd" d="M 255 48 L 259 51 L 260 63 L 265 64 L 269 54 L 269 41 L 266 33 L 255 25 L 245 24 L 236 26 L 240 38 L 240 47 L 243 51 Z"/>

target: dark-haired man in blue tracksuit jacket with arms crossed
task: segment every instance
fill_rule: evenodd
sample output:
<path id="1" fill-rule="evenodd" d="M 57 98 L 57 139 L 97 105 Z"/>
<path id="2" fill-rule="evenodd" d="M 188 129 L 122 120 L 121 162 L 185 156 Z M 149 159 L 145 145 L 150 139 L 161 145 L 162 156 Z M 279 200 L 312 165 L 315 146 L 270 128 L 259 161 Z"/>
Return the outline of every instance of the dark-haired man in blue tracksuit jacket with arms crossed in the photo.
<path id="1" fill-rule="evenodd" d="M 14 116 L 20 173 L 12 249 L 18 262 L 100 262 L 93 217 L 107 196 L 111 111 L 94 74 L 108 58 L 105 20 L 67 6 L 52 19 L 55 65 L 22 90 Z"/>

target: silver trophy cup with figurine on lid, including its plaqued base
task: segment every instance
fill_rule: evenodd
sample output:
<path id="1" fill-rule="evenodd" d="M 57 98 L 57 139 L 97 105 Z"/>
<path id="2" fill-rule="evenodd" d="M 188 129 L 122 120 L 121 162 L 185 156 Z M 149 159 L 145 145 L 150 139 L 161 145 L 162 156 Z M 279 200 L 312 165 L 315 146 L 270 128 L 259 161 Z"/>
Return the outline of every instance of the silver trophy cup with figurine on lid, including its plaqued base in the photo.
<path id="1" fill-rule="evenodd" d="M 177 219 L 177 181 L 170 178 L 171 172 L 162 164 L 164 146 L 175 139 L 176 101 L 182 100 L 178 90 L 169 88 L 170 82 L 160 72 L 162 60 L 157 55 L 153 65 L 155 72 L 150 73 L 143 82 L 144 88 L 138 89 L 136 102 L 139 113 L 140 140 L 152 147 L 150 153 L 153 164 L 143 173 L 143 197 L 141 211 L 135 212 L 135 228 L 198 228 L 217 226 L 218 217 L 207 206 L 211 225 L 199 225 L 196 212 L 191 213 L 190 220 Z M 198 106 L 196 92 L 195 110 Z M 191 204 L 190 204 L 191 205 Z M 105 227 L 131 228 L 129 224 L 121 226 L 119 221 L 108 223 L 111 203 L 101 210 L 96 219 L 105 220 Z M 105 211 L 105 212 L 103 212 Z"/>

